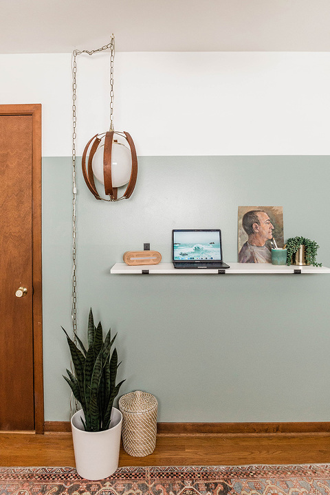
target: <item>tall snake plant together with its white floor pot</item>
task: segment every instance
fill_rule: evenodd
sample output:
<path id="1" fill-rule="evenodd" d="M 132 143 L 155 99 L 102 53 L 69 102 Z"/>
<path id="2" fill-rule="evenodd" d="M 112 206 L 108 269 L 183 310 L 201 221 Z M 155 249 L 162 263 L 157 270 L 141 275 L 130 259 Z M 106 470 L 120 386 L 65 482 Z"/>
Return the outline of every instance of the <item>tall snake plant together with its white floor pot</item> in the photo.
<path id="1" fill-rule="evenodd" d="M 63 328 L 63 327 L 62 327 Z M 63 329 L 65 331 L 65 329 Z M 80 346 L 67 335 L 67 343 L 74 364 L 75 375 L 67 369 L 66 382 L 82 409 L 71 419 L 76 469 L 83 478 L 96 480 L 107 478 L 118 467 L 122 414 L 113 407 L 124 382 L 115 384 L 118 354 L 111 347 L 111 331 L 103 341 L 101 322 L 94 325 L 93 313 L 89 311 L 88 349 L 78 338 Z"/>

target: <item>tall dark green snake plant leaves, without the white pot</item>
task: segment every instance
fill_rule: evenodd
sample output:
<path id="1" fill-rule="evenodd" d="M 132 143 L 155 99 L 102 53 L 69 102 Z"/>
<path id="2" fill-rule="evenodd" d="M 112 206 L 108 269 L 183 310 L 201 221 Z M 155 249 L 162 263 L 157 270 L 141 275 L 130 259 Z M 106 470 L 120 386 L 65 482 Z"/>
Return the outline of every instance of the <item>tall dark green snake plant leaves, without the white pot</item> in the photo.
<path id="1" fill-rule="evenodd" d="M 63 327 L 62 327 L 63 329 Z M 118 355 L 114 348 L 111 355 L 111 346 L 116 335 L 111 340 L 111 330 L 103 342 L 101 322 L 98 327 L 94 325 L 93 313 L 89 311 L 88 318 L 88 349 L 78 338 L 78 346 L 67 336 L 67 343 L 74 364 L 75 375 L 67 369 L 67 381 L 72 389 L 74 397 L 80 402 L 85 421 L 83 426 L 86 431 L 98 432 L 107 430 L 111 420 L 113 400 L 118 395 L 120 386 L 124 382 L 115 385 L 115 377 L 118 369 Z"/>

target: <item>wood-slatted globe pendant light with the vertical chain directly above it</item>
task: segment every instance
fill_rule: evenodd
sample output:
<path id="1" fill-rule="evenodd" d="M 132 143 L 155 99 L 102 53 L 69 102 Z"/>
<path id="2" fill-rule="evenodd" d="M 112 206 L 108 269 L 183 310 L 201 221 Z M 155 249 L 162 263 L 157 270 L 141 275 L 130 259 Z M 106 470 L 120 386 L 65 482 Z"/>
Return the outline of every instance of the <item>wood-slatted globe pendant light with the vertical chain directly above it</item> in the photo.
<path id="1" fill-rule="evenodd" d="M 115 38 L 112 35 L 110 68 L 110 130 L 96 134 L 86 144 L 82 166 L 87 187 L 96 199 L 104 199 L 96 189 L 94 177 L 104 185 L 105 201 L 119 201 L 131 196 L 137 178 L 137 156 L 131 135 L 128 132 L 115 131 L 113 128 L 113 61 L 115 56 Z M 121 197 L 118 188 L 126 186 Z"/>

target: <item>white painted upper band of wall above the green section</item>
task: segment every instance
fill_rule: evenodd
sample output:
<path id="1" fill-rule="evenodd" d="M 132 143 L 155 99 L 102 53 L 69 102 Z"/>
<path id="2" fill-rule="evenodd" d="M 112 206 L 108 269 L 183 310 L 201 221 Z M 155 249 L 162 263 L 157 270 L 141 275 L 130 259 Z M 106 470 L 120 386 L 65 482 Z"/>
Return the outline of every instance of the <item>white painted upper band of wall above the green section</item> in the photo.
<path id="1" fill-rule="evenodd" d="M 109 128 L 109 53 L 77 58 L 77 155 Z M 2 103 L 43 104 L 72 153 L 71 54 L 0 55 Z M 138 155 L 330 155 L 329 52 L 119 52 L 114 122 Z"/>

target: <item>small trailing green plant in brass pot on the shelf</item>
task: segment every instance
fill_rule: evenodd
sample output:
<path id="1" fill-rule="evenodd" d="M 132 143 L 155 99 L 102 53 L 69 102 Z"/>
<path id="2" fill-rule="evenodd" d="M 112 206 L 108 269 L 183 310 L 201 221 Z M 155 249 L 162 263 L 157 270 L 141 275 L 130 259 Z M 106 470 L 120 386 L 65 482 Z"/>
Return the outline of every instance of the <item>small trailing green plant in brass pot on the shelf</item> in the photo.
<path id="1" fill-rule="evenodd" d="M 287 265 L 313 265 L 322 266 L 316 262 L 316 255 L 320 247 L 316 241 L 306 239 L 306 237 L 290 237 L 287 239 Z"/>

